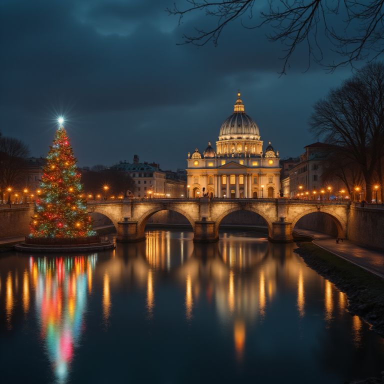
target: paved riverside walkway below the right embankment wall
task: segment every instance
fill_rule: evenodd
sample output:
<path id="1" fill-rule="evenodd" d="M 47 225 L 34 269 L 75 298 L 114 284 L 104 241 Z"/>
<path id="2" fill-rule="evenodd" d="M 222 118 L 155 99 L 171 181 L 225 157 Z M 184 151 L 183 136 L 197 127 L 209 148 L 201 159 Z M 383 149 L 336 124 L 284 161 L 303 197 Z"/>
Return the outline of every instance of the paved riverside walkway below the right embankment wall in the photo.
<path id="1" fill-rule="evenodd" d="M 339 240 L 325 233 L 315 232 L 307 229 L 294 229 L 294 233 L 313 238 L 313 244 L 327 250 L 367 271 L 384 278 L 384 252 L 364 248 L 349 240 Z"/>

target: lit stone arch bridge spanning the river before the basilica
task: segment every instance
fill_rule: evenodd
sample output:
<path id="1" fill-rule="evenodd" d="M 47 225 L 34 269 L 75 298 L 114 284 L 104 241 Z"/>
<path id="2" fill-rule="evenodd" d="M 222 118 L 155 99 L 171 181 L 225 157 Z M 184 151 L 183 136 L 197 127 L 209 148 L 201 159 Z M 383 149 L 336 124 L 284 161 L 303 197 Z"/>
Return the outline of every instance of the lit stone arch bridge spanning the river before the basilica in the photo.
<path id="1" fill-rule="evenodd" d="M 90 200 L 89 212 L 107 216 L 117 230 L 119 241 L 144 239 L 148 218 L 160 210 L 174 210 L 190 222 L 193 240 L 218 240 L 221 220 L 231 212 L 248 210 L 263 217 L 268 227 L 268 238 L 276 242 L 292 241 L 292 230 L 303 216 L 313 212 L 329 215 L 336 224 L 339 237 L 346 237 L 350 203 L 319 200 L 252 199 L 252 198 L 180 198 L 180 199 L 125 199 Z"/>

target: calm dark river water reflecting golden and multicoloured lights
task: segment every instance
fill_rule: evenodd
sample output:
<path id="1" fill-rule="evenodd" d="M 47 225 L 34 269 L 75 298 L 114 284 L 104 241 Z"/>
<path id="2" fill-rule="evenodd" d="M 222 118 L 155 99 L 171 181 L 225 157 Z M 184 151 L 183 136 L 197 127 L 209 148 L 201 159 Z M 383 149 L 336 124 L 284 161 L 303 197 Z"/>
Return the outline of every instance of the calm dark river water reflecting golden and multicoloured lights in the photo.
<path id="1" fill-rule="evenodd" d="M 256 235 L 257 236 L 257 235 Z M 384 342 L 293 252 L 189 231 L 78 255 L 0 254 L 0 382 L 343 383 Z"/>

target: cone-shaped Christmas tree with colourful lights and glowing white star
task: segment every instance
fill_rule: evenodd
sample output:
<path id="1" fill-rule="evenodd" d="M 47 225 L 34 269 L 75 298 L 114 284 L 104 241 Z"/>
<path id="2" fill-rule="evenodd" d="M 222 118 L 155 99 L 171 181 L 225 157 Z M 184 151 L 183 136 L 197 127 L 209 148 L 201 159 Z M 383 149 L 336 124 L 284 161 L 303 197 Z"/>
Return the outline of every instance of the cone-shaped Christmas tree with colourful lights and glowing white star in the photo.
<path id="1" fill-rule="evenodd" d="M 46 157 L 31 221 L 31 237 L 83 237 L 96 234 L 82 197 L 80 173 L 69 138 L 59 118 L 53 144 Z"/>

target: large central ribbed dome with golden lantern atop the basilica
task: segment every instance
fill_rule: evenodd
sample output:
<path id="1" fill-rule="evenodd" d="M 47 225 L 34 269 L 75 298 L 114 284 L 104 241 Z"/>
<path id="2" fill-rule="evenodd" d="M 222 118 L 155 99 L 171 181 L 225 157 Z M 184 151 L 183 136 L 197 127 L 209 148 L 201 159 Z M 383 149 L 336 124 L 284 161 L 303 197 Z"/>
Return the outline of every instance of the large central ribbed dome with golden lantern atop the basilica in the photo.
<path id="1" fill-rule="evenodd" d="M 222 123 L 219 133 L 219 140 L 231 138 L 257 140 L 260 138 L 257 124 L 245 113 L 244 104 L 240 99 L 240 92 L 237 93 L 233 113 Z"/>

